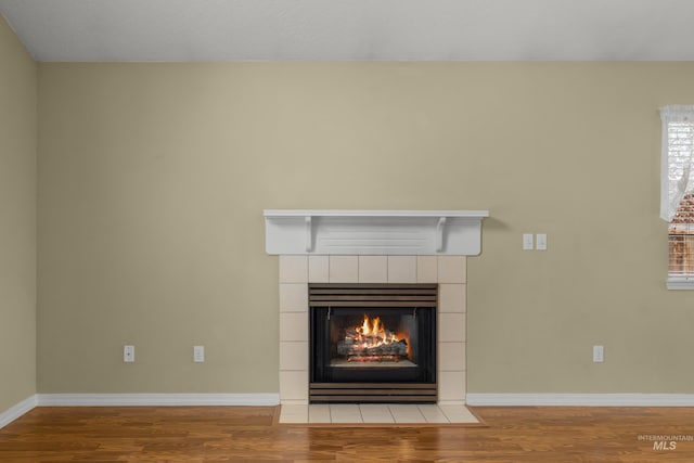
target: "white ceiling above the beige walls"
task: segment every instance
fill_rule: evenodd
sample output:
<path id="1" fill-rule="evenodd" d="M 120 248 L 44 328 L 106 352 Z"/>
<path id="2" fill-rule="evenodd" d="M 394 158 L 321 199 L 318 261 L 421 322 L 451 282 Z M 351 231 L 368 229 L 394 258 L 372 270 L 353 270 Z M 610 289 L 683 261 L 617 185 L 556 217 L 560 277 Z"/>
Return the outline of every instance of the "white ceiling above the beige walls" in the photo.
<path id="1" fill-rule="evenodd" d="M 0 0 L 38 61 L 686 60 L 693 0 Z"/>

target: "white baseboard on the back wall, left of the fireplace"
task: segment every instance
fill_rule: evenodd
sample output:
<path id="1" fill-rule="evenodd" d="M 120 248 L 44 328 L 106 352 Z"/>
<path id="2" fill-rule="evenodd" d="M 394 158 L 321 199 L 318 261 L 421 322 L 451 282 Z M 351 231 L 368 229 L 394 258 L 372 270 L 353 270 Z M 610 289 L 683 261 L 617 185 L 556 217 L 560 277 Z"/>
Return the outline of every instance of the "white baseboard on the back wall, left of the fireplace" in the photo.
<path id="1" fill-rule="evenodd" d="M 277 406 L 279 394 L 39 394 L 39 407 Z"/>

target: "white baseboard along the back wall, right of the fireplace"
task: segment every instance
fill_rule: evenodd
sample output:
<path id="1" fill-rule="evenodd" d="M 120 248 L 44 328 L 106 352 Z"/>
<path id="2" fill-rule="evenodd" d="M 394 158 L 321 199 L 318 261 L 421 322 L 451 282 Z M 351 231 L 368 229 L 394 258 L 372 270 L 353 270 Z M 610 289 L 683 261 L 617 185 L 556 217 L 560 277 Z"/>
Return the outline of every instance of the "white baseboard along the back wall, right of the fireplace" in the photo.
<path id="1" fill-rule="evenodd" d="M 479 407 L 694 407 L 694 394 L 468 394 Z"/>

